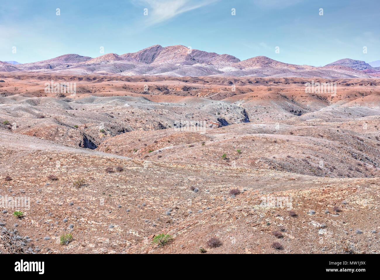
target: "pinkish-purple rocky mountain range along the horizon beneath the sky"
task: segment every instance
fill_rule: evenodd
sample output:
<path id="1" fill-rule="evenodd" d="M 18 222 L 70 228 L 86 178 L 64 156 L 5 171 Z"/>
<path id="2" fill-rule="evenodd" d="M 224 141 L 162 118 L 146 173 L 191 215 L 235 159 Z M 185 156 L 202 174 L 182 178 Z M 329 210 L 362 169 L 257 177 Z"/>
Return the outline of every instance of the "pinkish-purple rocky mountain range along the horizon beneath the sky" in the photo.
<path id="1" fill-rule="evenodd" d="M 379 61 L 371 62 L 377 65 Z M 370 78 L 380 75 L 380 67 L 364 61 L 340 59 L 323 67 L 288 64 L 266 56 L 243 61 L 229 54 L 209 53 L 182 45 L 150 46 L 135 53 L 108 53 L 97 58 L 65 54 L 56 58 L 19 64 L 0 61 L 0 71 L 55 72 L 72 75 L 168 75 L 185 76 L 251 76 L 251 77 L 321 77 Z"/>

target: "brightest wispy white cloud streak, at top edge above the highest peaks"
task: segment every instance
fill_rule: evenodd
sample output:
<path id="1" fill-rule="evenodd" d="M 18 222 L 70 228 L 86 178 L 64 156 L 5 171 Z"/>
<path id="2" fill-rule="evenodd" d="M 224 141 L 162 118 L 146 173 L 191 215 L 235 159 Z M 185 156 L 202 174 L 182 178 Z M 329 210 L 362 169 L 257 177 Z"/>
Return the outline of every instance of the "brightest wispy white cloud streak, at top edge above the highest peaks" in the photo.
<path id="1" fill-rule="evenodd" d="M 133 0 L 148 9 L 148 25 L 167 21 L 179 14 L 195 10 L 219 0 Z"/>

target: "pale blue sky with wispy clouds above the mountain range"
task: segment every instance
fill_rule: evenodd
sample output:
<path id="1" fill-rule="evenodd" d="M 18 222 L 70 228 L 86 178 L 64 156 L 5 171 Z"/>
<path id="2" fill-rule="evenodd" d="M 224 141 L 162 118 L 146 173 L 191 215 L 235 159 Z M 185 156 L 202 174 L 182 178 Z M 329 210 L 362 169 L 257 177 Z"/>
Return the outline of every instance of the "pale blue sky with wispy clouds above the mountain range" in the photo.
<path id="1" fill-rule="evenodd" d="M 158 44 L 241 60 L 264 55 L 314 66 L 342 58 L 371 62 L 380 59 L 379 18 L 379 0 L 2 1 L 0 61 L 97 57 L 101 46 L 104 53 L 123 54 Z"/>

